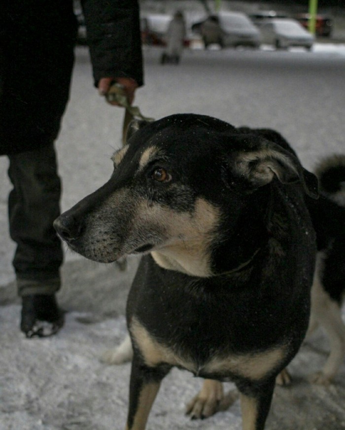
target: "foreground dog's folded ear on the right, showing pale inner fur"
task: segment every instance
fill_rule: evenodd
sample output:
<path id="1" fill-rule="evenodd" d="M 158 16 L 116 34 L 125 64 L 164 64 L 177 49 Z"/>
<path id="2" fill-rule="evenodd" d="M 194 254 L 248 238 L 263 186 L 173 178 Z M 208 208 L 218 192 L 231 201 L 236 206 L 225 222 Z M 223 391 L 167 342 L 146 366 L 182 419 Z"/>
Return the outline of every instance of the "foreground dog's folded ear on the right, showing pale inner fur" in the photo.
<path id="1" fill-rule="evenodd" d="M 305 192 L 312 198 L 318 197 L 318 183 L 315 175 L 304 169 L 298 158 L 290 151 L 266 139 L 239 149 L 233 153 L 228 166 L 232 175 L 243 178 L 254 188 L 266 185 L 274 177 L 281 183 L 300 181 Z"/>

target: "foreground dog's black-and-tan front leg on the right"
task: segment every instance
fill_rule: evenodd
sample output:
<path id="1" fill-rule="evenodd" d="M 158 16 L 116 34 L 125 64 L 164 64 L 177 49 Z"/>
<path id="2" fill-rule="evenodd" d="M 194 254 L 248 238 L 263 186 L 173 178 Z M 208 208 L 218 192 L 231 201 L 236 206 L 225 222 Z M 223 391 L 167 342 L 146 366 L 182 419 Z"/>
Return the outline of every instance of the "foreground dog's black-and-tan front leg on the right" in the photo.
<path id="1" fill-rule="evenodd" d="M 264 430 L 270 410 L 275 379 L 270 380 L 258 389 L 245 389 L 241 392 L 242 430 Z"/>

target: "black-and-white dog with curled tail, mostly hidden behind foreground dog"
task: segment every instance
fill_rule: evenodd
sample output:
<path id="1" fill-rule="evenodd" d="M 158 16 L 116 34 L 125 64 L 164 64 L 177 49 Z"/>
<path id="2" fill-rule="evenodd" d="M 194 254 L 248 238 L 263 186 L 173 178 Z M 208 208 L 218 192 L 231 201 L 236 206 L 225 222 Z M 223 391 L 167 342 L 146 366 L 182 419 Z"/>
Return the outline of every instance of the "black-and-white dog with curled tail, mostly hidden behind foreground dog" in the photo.
<path id="1" fill-rule="evenodd" d="M 241 127 L 240 130 L 258 133 L 289 148 L 287 141 L 274 130 L 251 130 L 247 127 Z M 317 233 L 318 252 L 306 337 L 308 339 L 318 326 L 322 327 L 330 344 L 330 353 L 324 367 L 309 375 L 308 379 L 315 384 L 329 385 L 345 357 L 345 324 L 341 316 L 345 296 L 345 155 L 335 154 L 323 158 L 314 173 L 319 181 L 320 198 L 315 201 L 306 196 L 306 203 Z M 102 360 L 108 364 L 122 364 L 132 358 L 131 339 L 127 335 L 118 347 L 106 351 Z M 288 385 L 291 379 L 290 373 L 284 369 L 276 383 Z"/>

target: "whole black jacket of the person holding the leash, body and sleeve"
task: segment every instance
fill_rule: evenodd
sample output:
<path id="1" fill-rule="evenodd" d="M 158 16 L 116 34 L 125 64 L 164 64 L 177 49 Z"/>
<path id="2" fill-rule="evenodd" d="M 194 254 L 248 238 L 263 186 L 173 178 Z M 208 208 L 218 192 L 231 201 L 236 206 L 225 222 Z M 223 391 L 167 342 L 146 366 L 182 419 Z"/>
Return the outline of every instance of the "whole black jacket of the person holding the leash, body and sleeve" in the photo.
<path id="1" fill-rule="evenodd" d="M 137 0 L 84 0 L 95 85 L 142 85 Z M 77 23 L 72 0 L 11 0 L 0 15 L 0 154 L 54 141 L 69 99 Z"/>

